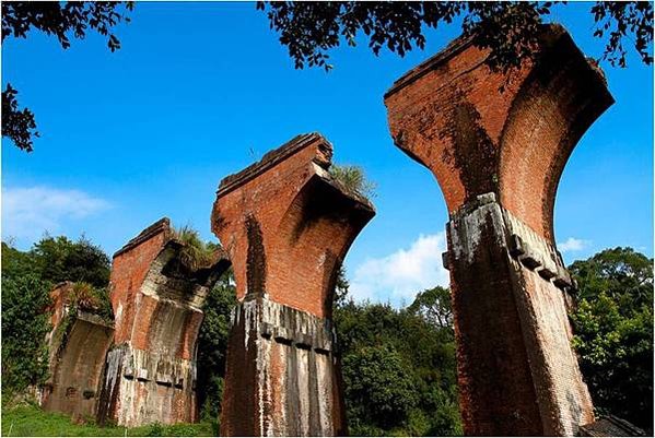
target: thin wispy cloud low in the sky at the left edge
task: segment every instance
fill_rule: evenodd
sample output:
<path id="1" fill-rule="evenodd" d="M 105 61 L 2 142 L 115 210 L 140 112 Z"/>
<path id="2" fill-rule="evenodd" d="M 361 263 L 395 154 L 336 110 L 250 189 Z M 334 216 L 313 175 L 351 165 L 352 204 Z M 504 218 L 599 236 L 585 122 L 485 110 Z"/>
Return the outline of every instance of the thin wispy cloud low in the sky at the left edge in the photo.
<path id="1" fill-rule="evenodd" d="M 46 230 L 56 233 L 68 220 L 81 220 L 108 208 L 107 201 L 80 190 L 3 188 L 2 237 L 34 241 Z"/>

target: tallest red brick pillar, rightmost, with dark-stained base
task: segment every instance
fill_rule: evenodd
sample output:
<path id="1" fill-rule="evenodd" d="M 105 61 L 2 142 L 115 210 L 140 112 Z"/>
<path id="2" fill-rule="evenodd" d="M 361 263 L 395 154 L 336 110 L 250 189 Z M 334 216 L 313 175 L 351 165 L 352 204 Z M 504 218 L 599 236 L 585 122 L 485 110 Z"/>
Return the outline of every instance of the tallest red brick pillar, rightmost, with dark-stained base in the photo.
<path id="1" fill-rule="evenodd" d="M 465 433 L 573 435 L 594 416 L 552 211 L 573 147 L 613 99 L 560 26 L 508 75 L 490 72 L 487 56 L 460 38 L 396 81 L 385 95 L 391 135 L 432 170 L 451 214 Z"/>

